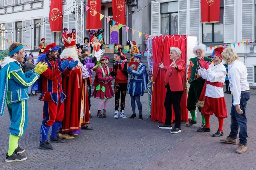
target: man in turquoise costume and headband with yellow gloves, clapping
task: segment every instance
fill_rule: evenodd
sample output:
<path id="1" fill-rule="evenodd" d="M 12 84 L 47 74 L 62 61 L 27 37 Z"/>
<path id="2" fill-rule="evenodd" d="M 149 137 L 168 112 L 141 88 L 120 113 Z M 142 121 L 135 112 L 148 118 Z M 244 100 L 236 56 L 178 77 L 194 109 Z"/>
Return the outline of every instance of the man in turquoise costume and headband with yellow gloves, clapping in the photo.
<path id="1" fill-rule="evenodd" d="M 9 48 L 10 57 L 5 57 L 0 71 L 0 115 L 3 115 L 5 102 L 10 114 L 11 125 L 9 127 L 9 150 L 5 162 L 19 162 L 26 160 L 26 156 L 20 155 L 25 150 L 18 147 L 18 140 L 24 134 L 28 125 L 28 96 L 27 88 L 37 81 L 47 69 L 47 64 L 38 65 L 26 73 L 23 73 L 20 63 L 24 61 L 25 52 L 23 46 L 13 43 Z"/>

